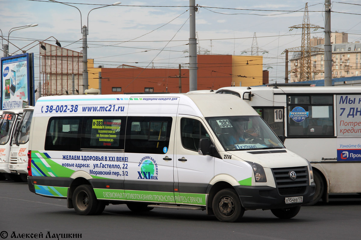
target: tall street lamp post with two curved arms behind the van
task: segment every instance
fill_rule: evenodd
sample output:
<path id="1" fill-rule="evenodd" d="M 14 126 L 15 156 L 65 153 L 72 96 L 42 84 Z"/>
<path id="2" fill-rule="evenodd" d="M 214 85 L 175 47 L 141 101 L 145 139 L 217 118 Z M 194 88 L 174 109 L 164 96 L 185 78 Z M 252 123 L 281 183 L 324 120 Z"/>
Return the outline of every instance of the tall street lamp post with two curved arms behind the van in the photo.
<path id="1" fill-rule="evenodd" d="M 61 3 L 61 2 L 58 2 L 58 1 L 55 1 L 55 0 L 48 0 L 48 1 L 52 1 L 52 2 L 56 2 L 56 3 Z M 76 6 L 73 6 L 73 5 L 69 5 L 69 4 L 66 4 L 66 3 L 61 3 L 61 4 L 65 4 L 65 5 L 68 5 L 68 6 L 72 6 L 76 9 L 78 9 L 79 13 L 80 13 L 80 24 L 81 24 L 81 33 L 83 35 L 83 94 L 85 92 L 86 89 L 88 89 L 88 49 L 87 49 L 87 45 L 88 45 L 88 40 L 87 40 L 87 35 L 88 35 L 88 30 L 87 30 L 87 26 L 82 26 L 82 13 L 81 11 L 79 10 L 79 8 L 77 8 Z M 118 4 L 121 4 L 121 2 L 116 2 L 116 3 L 113 3 L 111 5 L 106 5 L 106 6 L 101 6 L 99 8 L 105 8 L 105 7 L 108 7 L 108 6 L 114 6 L 114 5 L 118 5 Z M 98 8 L 93 8 L 91 9 L 89 12 L 88 12 L 88 17 L 87 17 L 87 25 L 89 26 L 89 13 L 94 10 L 94 9 L 98 9 Z"/>

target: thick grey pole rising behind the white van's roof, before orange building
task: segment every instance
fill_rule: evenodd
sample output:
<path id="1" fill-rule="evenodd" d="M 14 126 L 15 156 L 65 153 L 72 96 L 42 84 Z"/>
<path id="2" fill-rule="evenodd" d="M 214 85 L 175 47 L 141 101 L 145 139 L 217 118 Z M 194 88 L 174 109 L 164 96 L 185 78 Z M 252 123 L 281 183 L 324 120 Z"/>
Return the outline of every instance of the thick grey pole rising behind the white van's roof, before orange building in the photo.
<path id="1" fill-rule="evenodd" d="M 197 90 L 196 0 L 189 0 L 189 91 Z"/>

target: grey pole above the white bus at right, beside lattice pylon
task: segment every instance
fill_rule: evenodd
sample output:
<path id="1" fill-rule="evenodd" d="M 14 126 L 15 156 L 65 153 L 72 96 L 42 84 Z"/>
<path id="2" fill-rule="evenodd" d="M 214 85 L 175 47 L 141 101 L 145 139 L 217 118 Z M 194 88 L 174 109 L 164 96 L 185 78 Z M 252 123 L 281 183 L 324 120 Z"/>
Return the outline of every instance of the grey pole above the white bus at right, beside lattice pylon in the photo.
<path id="1" fill-rule="evenodd" d="M 325 87 L 332 86 L 331 0 L 325 0 Z"/>

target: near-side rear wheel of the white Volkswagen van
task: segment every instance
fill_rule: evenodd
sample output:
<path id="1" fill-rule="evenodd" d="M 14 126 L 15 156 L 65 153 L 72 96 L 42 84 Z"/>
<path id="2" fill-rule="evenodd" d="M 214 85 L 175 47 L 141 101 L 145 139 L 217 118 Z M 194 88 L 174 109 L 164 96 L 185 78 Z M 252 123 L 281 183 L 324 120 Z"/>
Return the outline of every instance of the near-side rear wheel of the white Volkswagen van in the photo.
<path id="1" fill-rule="evenodd" d="M 94 215 L 98 205 L 99 202 L 90 185 L 80 185 L 74 190 L 73 206 L 79 215 Z M 100 209 L 98 210 L 100 211 Z"/>

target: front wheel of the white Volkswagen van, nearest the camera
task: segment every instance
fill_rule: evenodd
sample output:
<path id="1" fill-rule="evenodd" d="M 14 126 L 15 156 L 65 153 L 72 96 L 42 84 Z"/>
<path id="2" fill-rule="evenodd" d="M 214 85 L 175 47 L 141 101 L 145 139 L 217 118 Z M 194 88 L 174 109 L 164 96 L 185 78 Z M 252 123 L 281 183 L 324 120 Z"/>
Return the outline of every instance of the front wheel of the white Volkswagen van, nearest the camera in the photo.
<path id="1" fill-rule="evenodd" d="M 214 215 L 221 222 L 235 222 L 242 218 L 244 208 L 234 189 L 222 189 L 213 198 Z"/>

